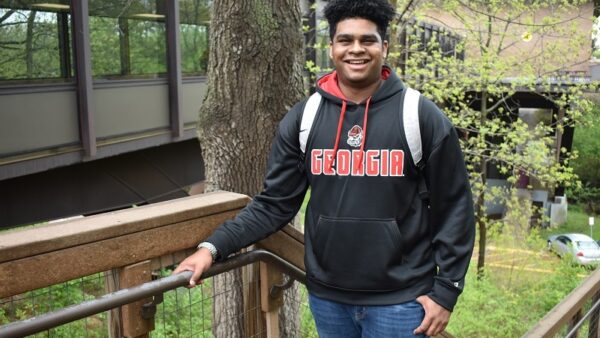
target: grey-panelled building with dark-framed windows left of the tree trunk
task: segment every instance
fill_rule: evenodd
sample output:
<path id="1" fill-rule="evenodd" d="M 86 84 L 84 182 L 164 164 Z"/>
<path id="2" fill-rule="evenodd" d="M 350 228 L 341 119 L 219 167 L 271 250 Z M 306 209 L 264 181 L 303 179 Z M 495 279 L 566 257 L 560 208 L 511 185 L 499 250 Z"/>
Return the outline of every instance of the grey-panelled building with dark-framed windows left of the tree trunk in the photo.
<path id="1" fill-rule="evenodd" d="M 0 0 L 0 227 L 203 179 L 209 0 Z"/>

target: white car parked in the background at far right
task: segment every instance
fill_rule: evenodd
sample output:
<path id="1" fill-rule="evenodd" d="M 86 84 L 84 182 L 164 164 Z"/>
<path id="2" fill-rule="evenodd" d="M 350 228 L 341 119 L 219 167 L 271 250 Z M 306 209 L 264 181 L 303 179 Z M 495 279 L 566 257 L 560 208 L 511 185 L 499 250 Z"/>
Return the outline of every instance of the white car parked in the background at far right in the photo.
<path id="1" fill-rule="evenodd" d="M 587 235 L 552 235 L 548 237 L 548 249 L 561 257 L 571 256 L 578 264 L 600 264 L 600 246 Z"/>

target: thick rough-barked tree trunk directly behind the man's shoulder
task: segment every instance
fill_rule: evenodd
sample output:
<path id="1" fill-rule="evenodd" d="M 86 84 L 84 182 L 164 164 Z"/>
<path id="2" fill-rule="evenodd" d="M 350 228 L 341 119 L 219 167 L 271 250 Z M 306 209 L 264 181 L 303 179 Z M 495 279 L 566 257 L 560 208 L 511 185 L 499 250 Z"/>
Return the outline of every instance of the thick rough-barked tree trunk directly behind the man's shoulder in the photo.
<path id="1" fill-rule="evenodd" d="M 277 124 L 304 96 L 300 18 L 297 0 L 213 2 L 198 125 L 207 191 L 261 190 Z M 213 285 L 215 337 L 243 337 L 240 274 L 221 275 Z"/>

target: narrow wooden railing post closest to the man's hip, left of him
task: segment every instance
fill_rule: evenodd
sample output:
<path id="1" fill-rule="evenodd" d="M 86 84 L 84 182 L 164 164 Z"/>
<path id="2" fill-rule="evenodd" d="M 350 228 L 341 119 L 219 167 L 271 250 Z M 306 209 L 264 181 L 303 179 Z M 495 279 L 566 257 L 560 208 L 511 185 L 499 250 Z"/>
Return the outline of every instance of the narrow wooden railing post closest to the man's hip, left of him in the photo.
<path id="1" fill-rule="evenodd" d="M 279 337 L 279 308 L 283 304 L 283 293 L 272 297 L 271 288 L 281 284 L 283 284 L 281 270 L 260 262 L 260 307 L 267 321 L 267 338 Z"/>

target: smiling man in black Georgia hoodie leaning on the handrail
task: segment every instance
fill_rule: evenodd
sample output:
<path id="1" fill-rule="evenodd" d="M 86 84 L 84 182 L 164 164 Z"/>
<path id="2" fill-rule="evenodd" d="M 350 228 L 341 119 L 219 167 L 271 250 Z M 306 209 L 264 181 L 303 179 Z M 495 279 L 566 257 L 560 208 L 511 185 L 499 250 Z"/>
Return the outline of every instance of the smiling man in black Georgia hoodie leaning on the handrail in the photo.
<path id="1" fill-rule="evenodd" d="M 305 265 L 321 337 L 414 337 L 446 327 L 473 249 L 470 186 L 456 132 L 421 98 L 424 167 L 413 163 L 402 121 L 405 86 L 384 66 L 394 8 L 334 0 L 325 8 L 335 71 L 306 142 L 306 100 L 279 125 L 264 191 L 174 271 L 194 285 L 216 259 L 287 224 L 308 187 Z M 418 166 L 417 166 L 418 165 Z M 423 198 L 422 182 L 429 198 Z"/>

